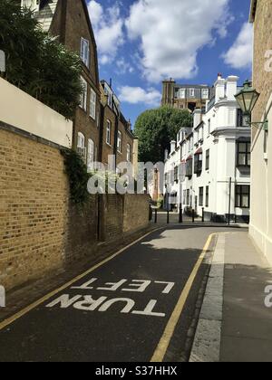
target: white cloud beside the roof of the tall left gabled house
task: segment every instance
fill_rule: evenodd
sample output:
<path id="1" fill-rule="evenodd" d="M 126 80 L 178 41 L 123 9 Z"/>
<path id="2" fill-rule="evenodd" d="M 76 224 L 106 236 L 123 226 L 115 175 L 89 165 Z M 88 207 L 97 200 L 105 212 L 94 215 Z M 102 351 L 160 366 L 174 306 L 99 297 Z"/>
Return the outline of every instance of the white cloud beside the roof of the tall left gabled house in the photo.
<path id="1" fill-rule="evenodd" d="M 116 2 L 104 9 L 95 0 L 88 4 L 88 10 L 95 33 L 95 39 L 102 64 L 110 63 L 117 55 L 119 47 L 124 43 L 123 25 L 120 7 Z"/>

